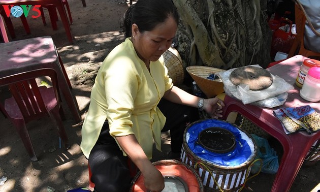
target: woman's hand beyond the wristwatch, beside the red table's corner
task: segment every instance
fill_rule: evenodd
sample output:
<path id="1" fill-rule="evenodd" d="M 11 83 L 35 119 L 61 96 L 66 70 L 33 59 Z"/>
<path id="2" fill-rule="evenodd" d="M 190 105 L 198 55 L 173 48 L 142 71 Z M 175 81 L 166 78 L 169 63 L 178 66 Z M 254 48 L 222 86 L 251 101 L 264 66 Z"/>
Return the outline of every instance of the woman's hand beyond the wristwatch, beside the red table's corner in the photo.
<path id="1" fill-rule="evenodd" d="M 203 101 L 203 109 L 210 115 L 211 118 L 222 117 L 222 107 L 225 107 L 225 104 L 222 100 L 218 98 L 205 99 Z"/>

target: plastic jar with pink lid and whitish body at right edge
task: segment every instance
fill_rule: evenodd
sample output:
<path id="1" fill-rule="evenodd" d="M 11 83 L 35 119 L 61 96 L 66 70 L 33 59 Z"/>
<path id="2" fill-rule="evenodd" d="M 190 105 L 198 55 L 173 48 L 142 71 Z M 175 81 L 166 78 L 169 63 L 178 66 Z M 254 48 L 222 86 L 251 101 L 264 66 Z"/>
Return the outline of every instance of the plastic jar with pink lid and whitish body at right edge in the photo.
<path id="1" fill-rule="evenodd" d="M 320 101 L 320 67 L 310 68 L 300 90 L 300 96 L 310 102 Z"/>

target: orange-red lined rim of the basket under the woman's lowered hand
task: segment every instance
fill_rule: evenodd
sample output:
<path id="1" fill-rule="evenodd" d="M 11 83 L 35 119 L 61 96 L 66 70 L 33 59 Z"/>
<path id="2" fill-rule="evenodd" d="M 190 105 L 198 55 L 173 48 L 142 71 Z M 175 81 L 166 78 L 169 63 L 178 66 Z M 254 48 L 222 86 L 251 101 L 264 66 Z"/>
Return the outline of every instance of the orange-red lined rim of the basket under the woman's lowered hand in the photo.
<path id="1" fill-rule="evenodd" d="M 204 186 L 198 172 L 189 165 L 177 161 L 175 159 L 161 160 L 152 163 L 156 169 L 158 169 L 164 177 L 173 176 L 182 179 L 186 182 L 187 190 L 190 192 L 203 192 Z M 143 185 L 143 186 L 142 186 Z M 135 191 L 147 191 L 144 187 L 143 178 L 139 171 L 133 179 L 133 185 L 130 189 L 131 192 Z M 148 190 L 149 191 L 149 190 Z"/>

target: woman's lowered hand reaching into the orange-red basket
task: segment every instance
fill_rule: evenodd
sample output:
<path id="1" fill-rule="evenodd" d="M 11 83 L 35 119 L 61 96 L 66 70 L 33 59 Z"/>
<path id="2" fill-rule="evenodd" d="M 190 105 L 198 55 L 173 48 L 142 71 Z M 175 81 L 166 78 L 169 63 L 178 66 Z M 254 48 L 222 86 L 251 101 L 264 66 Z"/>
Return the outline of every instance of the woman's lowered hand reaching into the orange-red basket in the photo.
<path id="1" fill-rule="evenodd" d="M 151 192 L 160 192 L 165 188 L 165 180 L 153 165 L 142 173 L 145 187 Z"/>

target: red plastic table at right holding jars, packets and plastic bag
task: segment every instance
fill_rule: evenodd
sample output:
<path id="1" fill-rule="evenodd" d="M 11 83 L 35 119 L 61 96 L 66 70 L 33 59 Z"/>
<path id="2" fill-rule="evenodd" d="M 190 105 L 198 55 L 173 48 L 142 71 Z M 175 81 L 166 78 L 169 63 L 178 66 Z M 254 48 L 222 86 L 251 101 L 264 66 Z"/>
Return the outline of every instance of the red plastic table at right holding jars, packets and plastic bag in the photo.
<path id="1" fill-rule="evenodd" d="M 281 77 L 286 82 L 294 85 L 295 89 L 290 90 L 286 102 L 276 108 L 262 108 L 253 105 L 244 105 L 241 101 L 235 100 L 228 95 L 225 97 L 226 107 L 223 108 L 223 119 L 227 119 L 231 112 L 238 112 L 253 123 L 260 126 L 264 131 L 276 138 L 283 147 L 283 156 L 279 165 L 276 178 L 271 191 L 289 191 L 312 144 L 320 139 L 320 131 L 312 135 L 307 132 L 297 132 L 286 135 L 280 121 L 273 115 L 273 111 L 283 107 L 299 107 L 310 105 L 320 113 L 320 102 L 308 102 L 300 97 L 300 88 L 295 85 L 295 80 L 306 57 L 296 55 L 286 59 L 267 70 Z"/>

